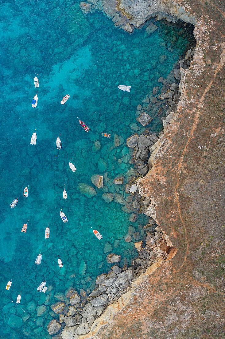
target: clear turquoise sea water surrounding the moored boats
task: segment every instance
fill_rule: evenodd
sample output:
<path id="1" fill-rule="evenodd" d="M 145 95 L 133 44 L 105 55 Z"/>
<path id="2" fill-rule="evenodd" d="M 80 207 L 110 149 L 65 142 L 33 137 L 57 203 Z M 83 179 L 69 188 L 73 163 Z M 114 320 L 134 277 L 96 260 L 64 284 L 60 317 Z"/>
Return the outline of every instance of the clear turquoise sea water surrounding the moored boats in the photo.
<path id="1" fill-rule="evenodd" d="M 136 107 L 142 99 L 154 86 L 162 86 L 158 78 L 167 77 L 185 51 L 189 34 L 185 27 L 157 22 L 157 31 L 149 37 L 144 35 L 145 27 L 129 35 L 101 13 L 84 16 L 79 3 L 72 1 L 5 1 L 1 9 L 0 337 L 50 338 L 44 327 L 55 317 L 50 305 L 59 299 L 54 295 L 61 298 L 60 293 L 70 286 L 90 293 L 96 276 L 110 268 L 106 242 L 110 252 L 121 255 L 120 265 L 129 265 L 137 255 L 134 241 L 126 243 L 123 237 L 130 224 L 141 232 L 138 225 L 146 224 L 148 218 L 139 215 L 131 223 L 123 205 L 105 202 L 102 194 L 128 196 L 124 186 L 112 180 L 126 177 L 132 168 L 126 138 L 134 131 L 129 125 L 136 122 Z M 167 57 L 163 63 L 161 55 Z M 33 109 L 35 76 L 40 87 Z M 118 84 L 131 85 L 131 92 L 119 91 Z M 62 106 L 65 94 L 70 98 Z M 90 127 L 89 133 L 82 130 L 77 117 Z M 159 132 L 160 118 L 155 117 L 148 127 Z M 37 142 L 30 145 L 35 129 Z M 103 138 L 101 132 L 110 133 L 111 139 Z M 62 149 L 57 150 L 59 134 Z M 114 147 L 115 135 L 124 140 L 118 147 Z M 93 150 L 96 140 L 101 144 L 99 151 Z M 71 158 L 75 173 L 68 166 Z M 89 199 L 77 185 L 93 186 L 93 174 L 104 175 L 105 185 L 95 187 L 97 195 Z M 67 200 L 62 198 L 64 184 Z M 28 185 L 28 198 L 23 198 Z M 18 204 L 11 209 L 15 198 Z M 60 210 L 68 223 L 62 222 Z M 28 219 L 27 232 L 21 233 Z M 46 240 L 48 222 L 50 239 Z M 101 241 L 93 228 L 102 234 Z M 37 266 L 40 250 L 43 259 Z M 61 270 L 58 256 L 64 264 Z M 6 291 L 10 279 L 12 285 Z M 46 294 L 36 292 L 43 280 Z M 21 291 L 18 306 L 11 300 L 15 302 Z"/>

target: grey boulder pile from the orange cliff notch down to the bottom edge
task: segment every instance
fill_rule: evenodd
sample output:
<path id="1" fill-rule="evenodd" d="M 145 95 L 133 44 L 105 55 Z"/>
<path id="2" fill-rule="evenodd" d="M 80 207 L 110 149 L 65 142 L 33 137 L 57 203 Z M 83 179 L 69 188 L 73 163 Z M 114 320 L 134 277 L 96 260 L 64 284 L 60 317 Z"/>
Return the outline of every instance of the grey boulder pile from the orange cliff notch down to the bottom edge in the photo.
<path id="1" fill-rule="evenodd" d="M 166 259 L 170 247 L 164 239 L 160 226 L 150 218 L 149 224 L 144 226 L 145 235 L 142 241 L 135 242 L 138 257 L 132 260 L 127 268 L 114 265 L 109 272 L 96 278 L 95 289 L 87 295 L 84 290 L 80 294 L 73 288 L 66 291 L 63 301 L 51 305 L 59 319 L 53 319 L 48 324 L 48 332 L 54 339 L 78 339 L 80 335 L 87 334 L 95 328 L 95 320 L 110 304 L 115 304 L 121 295 L 131 289 L 132 281 L 146 271 L 147 267 L 159 259 Z M 154 224 L 153 224 L 154 222 Z M 143 241 L 145 247 L 143 247 Z"/>

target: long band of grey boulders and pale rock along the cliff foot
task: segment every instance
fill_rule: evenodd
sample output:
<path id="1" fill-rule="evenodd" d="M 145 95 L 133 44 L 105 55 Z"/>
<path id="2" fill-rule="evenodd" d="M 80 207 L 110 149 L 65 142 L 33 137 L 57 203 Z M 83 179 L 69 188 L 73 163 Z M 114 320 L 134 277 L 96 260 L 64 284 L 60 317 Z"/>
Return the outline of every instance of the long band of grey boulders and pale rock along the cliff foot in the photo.
<path id="1" fill-rule="evenodd" d="M 135 229 L 132 230 L 132 226 L 129 227 L 130 229 L 125 237 L 125 241 L 129 242 L 132 238 L 136 241 L 134 246 L 138 251 L 138 257 L 132 260 L 129 267 L 126 264 L 122 268 L 114 265 L 108 273 L 98 276 L 96 288 L 89 296 L 86 295 L 85 291 L 80 291 L 79 294 L 71 287 L 66 291 L 65 297 L 62 297 L 62 301 L 52 304 L 52 311 L 59 317 L 51 320 L 48 324 L 48 332 L 53 336 L 53 339 L 92 337 L 103 324 L 110 322 L 109 318 L 113 319 L 113 314 L 120 307 L 124 307 L 129 301 L 132 289 L 139 277 L 154 272 L 161 263 L 172 259 L 177 252 L 177 248 L 173 247 L 157 219 L 152 218 L 155 215 L 152 213 L 151 199 L 146 198 L 143 191 L 140 192 L 139 183 L 154 166 L 154 156 L 159 145 L 163 144 L 163 135 L 170 123 L 180 114 L 178 103 L 182 99 L 184 76 L 193 61 L 194 53 L 195 47 L 189 49 L 185 58 L 179 60 L 180 68 L 174 68 L 173 74 L 176 82 L 168 84 L 168 81 L 159 78 L 158 82 L 164 83 L 161 93 L 158 93 L 158 87 L 154 87 L 153 92 L 149 93 L 137 106 L 137 122 L 143 127 L 147 127 L 152 120 L 147 112 L 153 111 L 154 115 L 160 117 L 163 122 L 163 131 L 157 136 L 156 133 L 146 128 L 142 134 L 134 133 L 127 139 L 126 143 L 131 155 L 129 163 L 133 164 L 134 167 L 134 172 L 130 173 L 130 176 L 128 175 L 125 185 L 125 192 L 130 194 L 130 199 L 128 197 L 126 201 L 123 201 L 123 199 L 120 201 L 117 193 L 103 193 L 105 201 L 110 202 L 115 198 L 115 201 L 122 203 L 125 209 L 127 207 L 128 210 L 133 208 L 136 213 L 143 213 L 150 217 L 147 225 L 144 227 L 140 225 L 141 241 L 138 241 L 140 240 L 140 233 L 134 232 Z M 161 104 L 163 104 L 164 111 L 160 107 L 158 108 Z M 136 123 L 132 123 L 131 129 L 135 131 L 140 128 Z M 114 143 L 119 142 L 119 137 L 116 136 Z M 98 188 L 103 187 L 103 180 L 103 176 L 100 175 L 95 175 L 92 178 L 93 184 Z M 114 184 L 124 184 L 124 177 L 115 178 Z M 80 190 L 82 191 L 83 187 Z M 87 191 L 89 194 L 88 189 Z M 118 196 L 116 197 L 116 195 Z M 132 203 L 132 208 L 127 203 L 129 205 Z M 129 220 L 136 218 L 136 213 L 132 213 Z M 120 262 L 120 256 L 110 253 L 107 256 L 107 262 Z M 104 319 L 106 318 L 107 321 L 105 322 Z"/>

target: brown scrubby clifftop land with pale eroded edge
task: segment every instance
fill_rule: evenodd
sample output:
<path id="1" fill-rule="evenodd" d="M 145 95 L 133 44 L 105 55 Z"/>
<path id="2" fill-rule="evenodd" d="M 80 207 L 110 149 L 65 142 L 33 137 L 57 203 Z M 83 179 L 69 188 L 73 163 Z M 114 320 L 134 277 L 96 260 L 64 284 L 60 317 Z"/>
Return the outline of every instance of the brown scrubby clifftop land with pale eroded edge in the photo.
<path id="1" fill-rule="evenodd" d="M 181 70 L 177 114 L 164 123 L 152 167 L 139 180 L 141 193 L 151 199 L 149 216 L 178 252 L 172 261 L 160 261 L 157 270 L 150 266 L 89 337 L 223 337 L 225 25 L 220 6 L 199 0 L 117 5 L 131 27 L 151 16 L 193 23 L 197 47 L 190 68 Z"/>

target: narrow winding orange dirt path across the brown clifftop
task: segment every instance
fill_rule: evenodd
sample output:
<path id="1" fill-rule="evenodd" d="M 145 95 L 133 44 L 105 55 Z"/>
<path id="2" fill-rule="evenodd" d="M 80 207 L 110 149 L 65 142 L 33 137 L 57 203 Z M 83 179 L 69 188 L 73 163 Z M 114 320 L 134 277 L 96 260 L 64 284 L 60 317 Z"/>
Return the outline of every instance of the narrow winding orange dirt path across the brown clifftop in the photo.
<path id="1" fill-rule="evenodd" d="M 180 174 L 181 170 L 185 171 L 185 169 L 184 169 L 183 166 L 182 166 L 183 158 L 184 158 L 184 154 L 185 154 L 185 152 L 186 152 L 186 149 L 187 149 L 189 143 L 191 142 L 191 140 L 192 140 L 192 138 L 193 138 L 193 134 L 194 134 L 194 132 L 195 132 L 195 130 L 196 130 L 196 128 L 197 128 L 197 123 L 198 123 L 198 120 L 199 120 L 200 109 L 201 109 L 202 103 L 203 103 L 203 101 L 204 101 L 204 99 L 205 99 L 205 96 L 206 96 L 207 92 L 209 91 L 211 85 L 213 84 L 214 80 L 216 79 L 217 73 L 220 71 L 220 69 L 223 67 L 223 65 L 224 65 L 224 63 L 225 63 L 225 42 L 224 42 L 223 44 L 221 44 L 221 46 L 223 47 L 223 52 L 221 53 L 220 62 L 219 62 L 218 66 L 217 66 L 217 68 L 216 68 L 216 70 L 215 70 L 215 73 L 214 73 L 214 76 L 213 76 L 212 80 L 210 81 L 210 83 L 208 84 L 208 86 L 205 88 L 205 90 L 204 90 L 204 92 L 203 92 L 203 95 L 202 95 L 201 99 L 199 100 L 199 103 L 198 103 L 198 105 L 197 105 L 198 109 L 196 110 L 196 108 L 195 108 L 195 109 L 193 109 L 192 111 L 186 109 L 186 111 L 187 111 L 189 114 L 191 114 L 191 115 L 194 115 L 194 114 L 195 114 L 195 119 L 194 119 L 194 121 L 193 121 L 193 127 L 192 127 L 192 129 L 191 129 L 190 134 L 189 134 L 188 141 L 187 141 L 187 143 L 186 143 L 186 145 L 185 145 L 185 147 L 184 147 L 184 149 L 183 149 L 183 152 L 182 152 L 181 157 L 180 157 L 180 161 L 179 161 L 178 166 L 177 166 L 177 169 L 178 169 L 178 171 L 177 171 L 177 176 L 178 176 L 178 178 L 177 178 L 177 184 L 176 184 L 176 188 L 175 188 L 175 200 L 176 200 L 176 203 L 177 203 L 177 206 L 178 206 L 178 213 L 179 213 L 179 216 L 180 216 L 180 220 L 181 220 L 181 223 L 182 223 L 183 228 L 184 228 L 184 231 L 185 231 L 185 240 L 186 240 L 186 244 L 187 244 L 187 245 L 186 245 L 186 252 L 185 252 L 185 256 L 184 256 L 183 262 L 182 262 L 182 264 L 180 265 L 180 267 L 178 268 L 178 270 L 177 270 L 176 272 L 179 272 L 179 271 L 180 271 L 181 267 L 182 267 L 182 266 L 184 265 L 184 263 L 186 262 L 186 258 L 187 258 L 188 254 L 189 254 L 189 241 L 188 241 L 188 235 L 187 235 L 187 230 L 186 230 L 185 222 L 184 222 L 184 220 L 183 220 L 183 218 L 182 218 L 182 215 L 181 215 L 181 207 L 180 207 L 180 202 L 179 202 L 179 196 L 178 196 L 178 193 L 177 193 L 177 188 L 178 188 L 179 182 L 180 182 L 180 176 L 179 176 L 179 174 Z M 212 71 L 214 72 L 214 70 L 212 70 Z M 191 115 L 190 115 L 190 116 L 191 116 Z"/>

